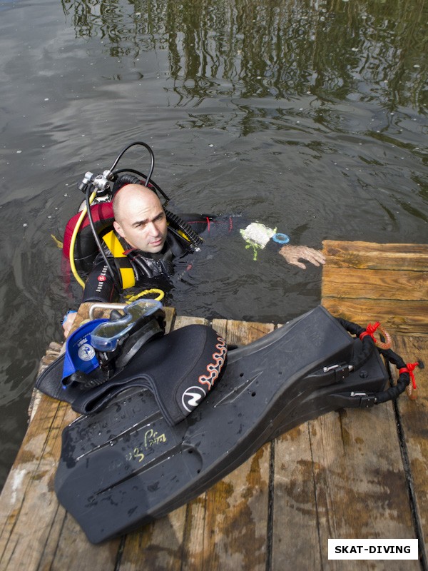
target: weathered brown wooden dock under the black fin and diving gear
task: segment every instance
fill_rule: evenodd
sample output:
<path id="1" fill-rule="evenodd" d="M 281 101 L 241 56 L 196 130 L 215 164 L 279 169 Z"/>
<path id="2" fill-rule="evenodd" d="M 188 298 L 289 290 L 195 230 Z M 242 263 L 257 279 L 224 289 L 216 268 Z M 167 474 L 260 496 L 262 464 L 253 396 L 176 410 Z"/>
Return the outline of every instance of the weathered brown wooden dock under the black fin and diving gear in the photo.
<path id="1" fill-rule="evenodd" d="M 381 321 L 406 362 L 427 364 L 428 246 L 324 249 L 322 304 L 360 325 Z M 207 323 L 167 315 L 170 328 Z M 274 328 L 211 325 L 240 344 Z M 43 395 L 0 497 L 0 571 L 428 571 L 427 368 L 416 373 L 417 400 L 402 395 L 300 425 L 168 517 L 96 546 L 54 493 L 61 432 L 76 414 Z M 417 538 L 420 557 L 328 560 L 329 538 Z"/>

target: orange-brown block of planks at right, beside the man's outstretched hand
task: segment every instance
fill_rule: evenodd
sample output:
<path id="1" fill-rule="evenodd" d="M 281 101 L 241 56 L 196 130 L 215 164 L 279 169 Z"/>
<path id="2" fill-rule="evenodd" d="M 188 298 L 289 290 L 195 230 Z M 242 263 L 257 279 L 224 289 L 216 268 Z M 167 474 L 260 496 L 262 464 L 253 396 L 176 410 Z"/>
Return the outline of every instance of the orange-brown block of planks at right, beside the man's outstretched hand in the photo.
<path id="1" fill-rule="evenodd" d="M 428 335 L 428 246 L 325 241 L 322 305 L 362 326 Z"/>

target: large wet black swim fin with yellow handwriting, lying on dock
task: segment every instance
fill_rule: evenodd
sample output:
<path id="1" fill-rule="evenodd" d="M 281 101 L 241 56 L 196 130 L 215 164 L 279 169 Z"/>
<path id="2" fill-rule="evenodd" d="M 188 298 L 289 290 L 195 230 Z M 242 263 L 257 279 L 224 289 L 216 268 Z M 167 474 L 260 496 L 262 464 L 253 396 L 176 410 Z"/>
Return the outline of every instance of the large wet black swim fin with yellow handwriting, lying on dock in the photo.
<path id="1" fill-rule="evenodd" d="M 268 440 L 310 418 L 364 405 L 387 373 L 321 306 L 230 350 L 203 402 L 168 424 L 153 394 L 133 388 L 63 430 L 58 500 L 98 543 L 145 525 L 200 495 Z"/>

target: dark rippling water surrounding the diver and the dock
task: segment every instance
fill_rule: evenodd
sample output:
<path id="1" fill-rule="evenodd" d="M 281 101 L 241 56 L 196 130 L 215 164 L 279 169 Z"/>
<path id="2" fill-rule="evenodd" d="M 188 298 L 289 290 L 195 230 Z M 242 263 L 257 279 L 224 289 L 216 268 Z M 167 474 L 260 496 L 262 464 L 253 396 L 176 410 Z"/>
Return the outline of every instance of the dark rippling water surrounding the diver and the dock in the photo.
<path id="1" fill-rule="evenodd" d="M 243 212 L 314 247 L 427 241 L 427 4 L 0 0 L 0 485 L 76 303 L 51 235 L 127 143 L 153 147 L 170 210 Z M 182 314 L 281 322 L 319 303 L 319 269 L 254 262 L 239 237 L 199 258 Z"/>

